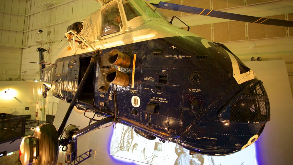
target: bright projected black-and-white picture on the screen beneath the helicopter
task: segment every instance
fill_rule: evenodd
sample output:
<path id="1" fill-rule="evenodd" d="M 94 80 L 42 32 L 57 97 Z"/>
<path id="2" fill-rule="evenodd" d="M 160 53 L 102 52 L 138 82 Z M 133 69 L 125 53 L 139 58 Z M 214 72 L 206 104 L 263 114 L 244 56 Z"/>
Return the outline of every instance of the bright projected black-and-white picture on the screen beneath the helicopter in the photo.
<path id="1" fill-rule="evenodd" d="M 254 144 L 227 156 L 189 155 L 175 143 L 148 140 L 122 124 L 113 132 L 110 154 L 152 165 L 256 165 Z"/>

